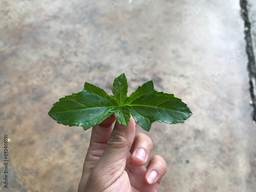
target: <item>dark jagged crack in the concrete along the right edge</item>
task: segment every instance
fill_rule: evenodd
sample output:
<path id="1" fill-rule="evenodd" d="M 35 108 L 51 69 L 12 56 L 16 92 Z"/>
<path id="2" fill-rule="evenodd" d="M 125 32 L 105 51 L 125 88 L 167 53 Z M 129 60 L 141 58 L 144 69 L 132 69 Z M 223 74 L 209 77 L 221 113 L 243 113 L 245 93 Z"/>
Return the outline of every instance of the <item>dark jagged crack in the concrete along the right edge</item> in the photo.
<path id="1" fill-rule="evenodd" d="M 251 37 L 251 23 L 248 16 L 248 2 L 247 0 L 240 0 L 241 16 L 244 20 L 244 34 L 246 41 L 246 54 L 248 58 L 247 70 L 249 75 L 249 91 L 252 100 L 252 119 L 256 121 L 256 67 L 255 57 L 253 53 L 252 37 Z"/>

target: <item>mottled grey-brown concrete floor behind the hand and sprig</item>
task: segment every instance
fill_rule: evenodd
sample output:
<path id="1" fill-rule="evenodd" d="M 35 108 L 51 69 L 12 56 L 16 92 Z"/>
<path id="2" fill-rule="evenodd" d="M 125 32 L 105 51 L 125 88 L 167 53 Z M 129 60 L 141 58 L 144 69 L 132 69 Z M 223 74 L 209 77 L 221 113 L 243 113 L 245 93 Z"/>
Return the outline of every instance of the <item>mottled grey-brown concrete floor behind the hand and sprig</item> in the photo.
<path id="1" fill-rule="evenodd" d="M 91 130 L 47 113 L 84 81 L 110 93 L 123 72 L 130 93 L 153 79 L 194 114 L 183 124 L 154 123 L 149 133 L 138 127 L 166 160 L 160 191 L 256 191 L 239 1 L 2 1 L 0 15 L 9 191 L 77 190 Z M 0 190 L 8 191 L 3 182 Z"/>

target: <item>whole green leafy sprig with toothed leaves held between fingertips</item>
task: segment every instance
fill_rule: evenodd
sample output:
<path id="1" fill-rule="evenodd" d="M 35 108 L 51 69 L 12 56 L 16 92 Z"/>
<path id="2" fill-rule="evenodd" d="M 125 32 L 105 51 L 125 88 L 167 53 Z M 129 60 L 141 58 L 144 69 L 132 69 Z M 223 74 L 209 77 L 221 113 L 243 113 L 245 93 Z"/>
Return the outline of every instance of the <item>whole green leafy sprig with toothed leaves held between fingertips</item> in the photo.
<path id="1" fill-rule="evenodd" d="M 187 105 L 174 94 L 155 91 L 153 81 L 139 86 L 130 97 L 127 97 L 127 88 L 125 74 L 115 78 L 111 96 L 86 82 L 82 91 L 54 103 L 48 114 L 58 123 L 82 126 L 84 130 L 99 124 L 113 113 L 119 123 L 127 126 L 132 115 L 146 131 L 150 131 L 155 121 L 182 123 L 192 115 Z"/>

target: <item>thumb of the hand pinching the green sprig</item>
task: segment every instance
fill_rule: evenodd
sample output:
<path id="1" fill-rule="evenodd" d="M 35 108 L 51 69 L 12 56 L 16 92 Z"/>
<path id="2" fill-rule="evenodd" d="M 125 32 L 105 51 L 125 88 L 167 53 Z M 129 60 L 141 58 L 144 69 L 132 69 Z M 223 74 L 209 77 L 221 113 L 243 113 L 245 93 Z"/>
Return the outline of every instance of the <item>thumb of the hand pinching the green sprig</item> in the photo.
<path id="1" fill-rule="evenodd" d="M 105 150 L 94 167 L 94 171 L 100 173 L 105 179 L 117 179 L 125 168 L 127 153 L 129 153 L 135 137 L 136 123 L 131 117 L 128 126 L 116 122 L 111 136 L 106 143 Z M 101 177 L 100 176 L 100 177 Z M 103 178 L 101 178 L 103 179 Z"/>

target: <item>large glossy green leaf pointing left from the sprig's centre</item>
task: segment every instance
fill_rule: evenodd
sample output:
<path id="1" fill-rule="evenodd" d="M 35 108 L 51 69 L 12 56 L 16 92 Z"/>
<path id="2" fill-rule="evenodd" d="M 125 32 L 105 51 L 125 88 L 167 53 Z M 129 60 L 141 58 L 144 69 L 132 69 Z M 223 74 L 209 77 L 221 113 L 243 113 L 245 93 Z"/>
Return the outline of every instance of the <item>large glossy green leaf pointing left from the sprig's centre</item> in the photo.
<path id="1" fill-rule="evenodd" d="M 116 101 L 104 90 L 86 82 L 82 91 L 54 103 L 48 114 L 58 123 L 88 130 L 109 117 L 116 106 Z"/>

